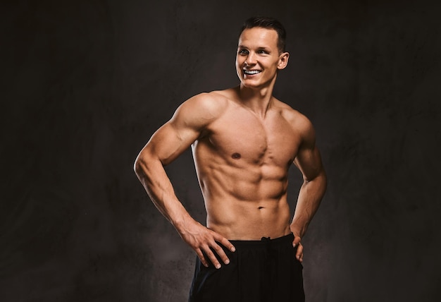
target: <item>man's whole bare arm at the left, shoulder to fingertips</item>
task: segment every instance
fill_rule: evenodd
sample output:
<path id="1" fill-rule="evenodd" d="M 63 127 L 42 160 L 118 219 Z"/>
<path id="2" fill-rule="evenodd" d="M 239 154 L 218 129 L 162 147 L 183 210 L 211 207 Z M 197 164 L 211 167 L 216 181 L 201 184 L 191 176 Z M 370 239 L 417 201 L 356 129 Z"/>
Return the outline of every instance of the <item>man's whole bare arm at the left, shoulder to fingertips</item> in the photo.
<path id="1" fill-rule="evenodd" d="M 206 126 L 216 119 L 216 109 L 216 102 L 212 102 L 207 94 L 187 100 L 176 110 L 172 119 L 152 135 L 139 153 L 135 161 L 135 173 L 154 205 L 194 249 L 202 264 L 208 266 L 210 260 L 215 267 L 220 267 L 213 250 L 225 264 L 229 260 L 216 241 L 230 250 L 234 250 L 234 247 L 226 238 L 202 226 L 190 216 L 176 197 L 163 168 L 190 147 Z"/>

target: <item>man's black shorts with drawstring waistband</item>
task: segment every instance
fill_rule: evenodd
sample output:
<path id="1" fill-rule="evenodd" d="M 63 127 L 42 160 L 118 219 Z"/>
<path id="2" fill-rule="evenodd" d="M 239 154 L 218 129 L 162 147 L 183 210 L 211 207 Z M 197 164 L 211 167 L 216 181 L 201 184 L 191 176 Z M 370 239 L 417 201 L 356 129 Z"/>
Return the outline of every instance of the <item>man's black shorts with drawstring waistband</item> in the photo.
<path id="1" fill-rule="evenodd" d="M 294 235 L 261 241 L 230 241 L 230 259 L 219 270 L 196 260 L 189 302 L 305 301 L 302 264 L 295 258 Z"/>

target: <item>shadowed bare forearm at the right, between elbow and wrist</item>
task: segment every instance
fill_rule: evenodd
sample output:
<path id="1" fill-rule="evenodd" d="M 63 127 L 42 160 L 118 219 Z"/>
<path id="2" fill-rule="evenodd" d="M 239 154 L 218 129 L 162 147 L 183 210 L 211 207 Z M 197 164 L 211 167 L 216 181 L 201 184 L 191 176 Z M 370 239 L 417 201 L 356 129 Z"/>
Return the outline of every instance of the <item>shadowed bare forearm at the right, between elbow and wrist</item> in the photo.
<path id="1" fill-rule="evenodd" d="M 326 190 L 326 175 L 322 171 L 311 181 L 304 181 L 299 191 L 297 206 L 290 225 L 292 233 L 303 237 L 309 223 L 318 210 Z"/>

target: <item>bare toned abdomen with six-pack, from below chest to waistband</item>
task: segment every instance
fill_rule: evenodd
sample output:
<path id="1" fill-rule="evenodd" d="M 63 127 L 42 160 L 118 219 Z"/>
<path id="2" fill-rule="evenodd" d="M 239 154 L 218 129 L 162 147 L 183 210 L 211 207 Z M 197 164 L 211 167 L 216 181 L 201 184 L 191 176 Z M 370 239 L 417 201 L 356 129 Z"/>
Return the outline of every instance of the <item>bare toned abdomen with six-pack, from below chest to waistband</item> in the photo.
<path id="1" fill-rule="evenodd" d="M 207 227 L 230 240 L 290 234 L 287 171 L 280 167 L 204 164 L 198 169 Z"/>

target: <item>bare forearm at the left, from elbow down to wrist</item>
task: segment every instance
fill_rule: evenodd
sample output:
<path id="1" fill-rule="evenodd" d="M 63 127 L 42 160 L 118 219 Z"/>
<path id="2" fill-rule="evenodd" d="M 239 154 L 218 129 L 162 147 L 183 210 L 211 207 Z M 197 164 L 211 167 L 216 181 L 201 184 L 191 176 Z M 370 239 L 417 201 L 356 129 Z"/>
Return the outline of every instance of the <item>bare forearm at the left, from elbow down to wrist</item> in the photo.
<path id="1" fill-rule="evenodd" d="M 135 173 L 156 208 L 178 232 L 181 232 L 182 225 L 194 221 L 176 197 L 159 159 L 140 155 L 135 162 Z"/>

